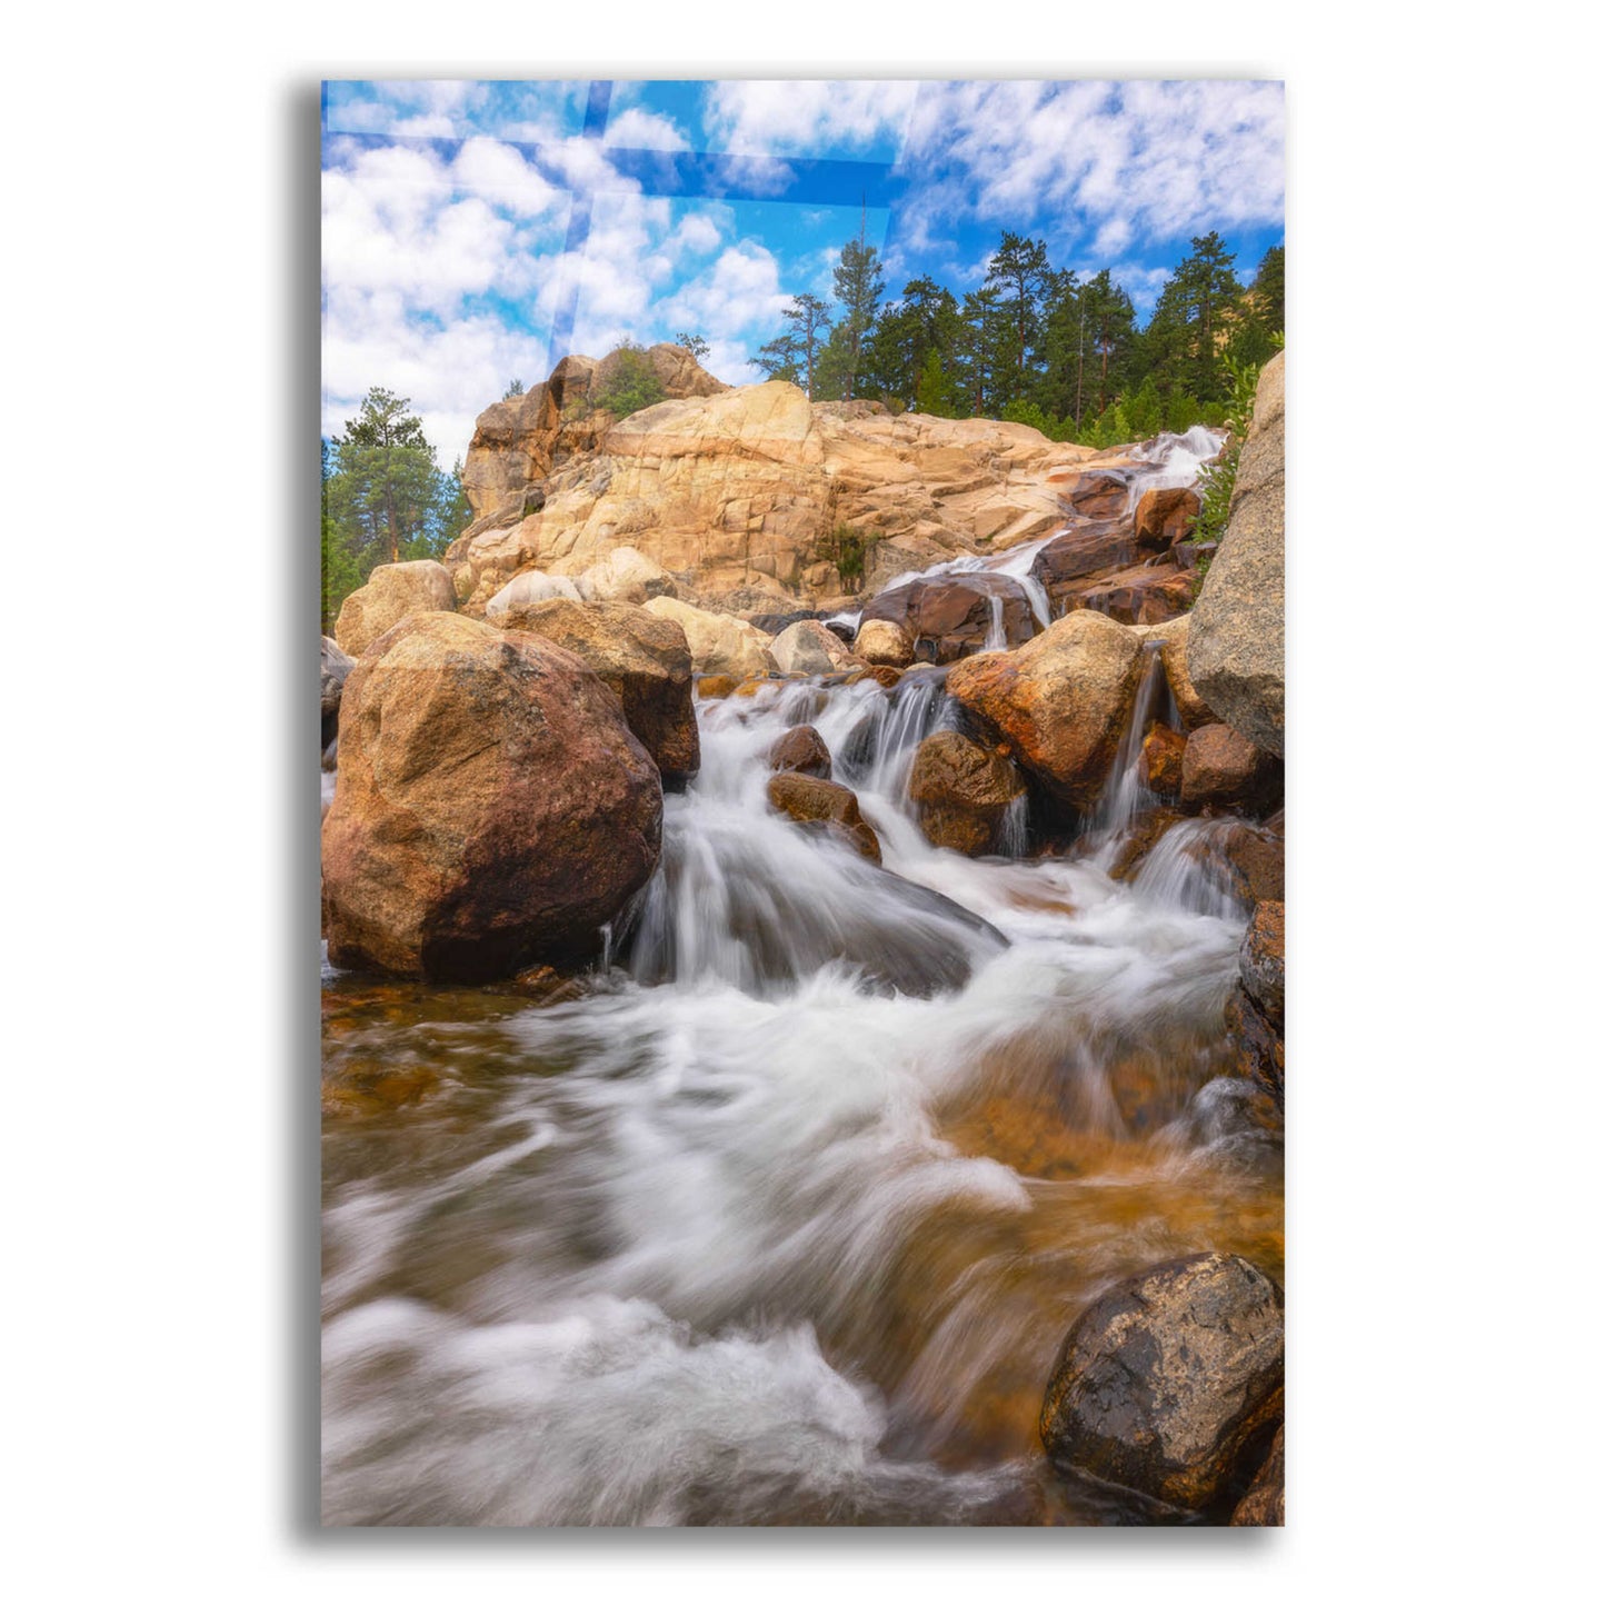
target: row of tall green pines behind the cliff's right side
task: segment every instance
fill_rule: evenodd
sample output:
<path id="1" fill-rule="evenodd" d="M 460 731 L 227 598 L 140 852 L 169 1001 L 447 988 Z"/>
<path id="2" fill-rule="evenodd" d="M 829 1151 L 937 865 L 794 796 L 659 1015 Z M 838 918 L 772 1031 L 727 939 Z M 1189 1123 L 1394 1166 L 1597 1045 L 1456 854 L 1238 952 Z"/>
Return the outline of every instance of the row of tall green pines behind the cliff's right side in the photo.
<path id="1" fill-rule="evenodd" d="M 1221 234 L 1192 241 L 1139 328 L 1108 268 L 1055 268 L 1041 239 L 1009 230 L 980 289 L 930 276 L 887 299 L 874 246 L 843 246 L 830 302 L 792 297 L 755 361 L 811 400 L 874 398 L 895 411 L 1002 418 L 1055 440 L 1116 445 L 1225 421 L 1233 376 L 1282 342 L 1283 247 L 1240 283 Z"/>

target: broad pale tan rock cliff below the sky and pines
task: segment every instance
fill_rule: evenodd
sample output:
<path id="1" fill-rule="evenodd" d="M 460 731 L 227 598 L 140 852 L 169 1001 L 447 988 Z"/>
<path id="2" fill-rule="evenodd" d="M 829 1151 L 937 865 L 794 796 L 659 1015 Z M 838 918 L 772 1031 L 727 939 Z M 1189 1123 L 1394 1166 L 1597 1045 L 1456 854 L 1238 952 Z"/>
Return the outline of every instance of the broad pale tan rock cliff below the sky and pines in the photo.
<path id="1" fill-rule="evenodd" d="M 630 418 L 575 402 L 602 382 L 589 358 L 480 416 L 464 477 L 480 519 L 445 554 L 471 610 L 522 569 L 578 573 L 626 543 L 703 596 L 816 604 L 843 589 L 840 527 L 869 541 L 870 594 L 891 575 L 1046 535 L 1095 456 L 1025 424 L 809 403 L 779 381 L 721 387 L 678 347 L 649 355 L 660 352 L 684 358 L 670 379 L 687 393 Z"/>

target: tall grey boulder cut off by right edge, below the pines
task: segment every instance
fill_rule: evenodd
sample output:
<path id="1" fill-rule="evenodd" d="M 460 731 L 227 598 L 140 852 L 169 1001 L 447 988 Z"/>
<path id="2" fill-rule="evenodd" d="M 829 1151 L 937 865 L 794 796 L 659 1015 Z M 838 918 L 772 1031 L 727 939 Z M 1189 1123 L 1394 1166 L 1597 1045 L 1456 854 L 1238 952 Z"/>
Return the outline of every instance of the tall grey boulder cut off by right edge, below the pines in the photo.
<path id="1" fill-rule="evenodd" d="M 1188 675 L 1216 716 L 1283 756 L 1283 353 L 1261 369 L 1227 535 L 1188 631 Z"/>

